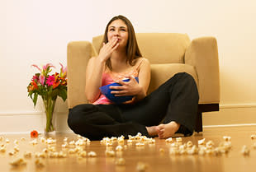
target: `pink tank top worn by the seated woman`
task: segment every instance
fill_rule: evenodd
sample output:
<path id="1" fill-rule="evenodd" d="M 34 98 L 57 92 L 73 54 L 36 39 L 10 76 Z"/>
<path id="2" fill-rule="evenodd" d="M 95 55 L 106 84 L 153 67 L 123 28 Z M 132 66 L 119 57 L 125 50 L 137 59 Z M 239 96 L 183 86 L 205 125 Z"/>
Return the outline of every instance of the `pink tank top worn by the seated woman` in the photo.
<path id="1" fill-rule="evenodd" d="M 130 70 L 129 72 L 103 72 L 102 86 L 106 86 L 117 80 L 122 80 L 126 76 L 139 77 L 139 67 L 142 61 L 143 60 L 140 61 L 137 67 L 133 67 L 133 69 Z M 115 103 L 107 99 L 107 97 L 105 95 L 102 95 L 102 93 L 100 93 L 99 98 L 92 103 L 92 105 L 111 105 L 111 104 L 115 104 Z"/>

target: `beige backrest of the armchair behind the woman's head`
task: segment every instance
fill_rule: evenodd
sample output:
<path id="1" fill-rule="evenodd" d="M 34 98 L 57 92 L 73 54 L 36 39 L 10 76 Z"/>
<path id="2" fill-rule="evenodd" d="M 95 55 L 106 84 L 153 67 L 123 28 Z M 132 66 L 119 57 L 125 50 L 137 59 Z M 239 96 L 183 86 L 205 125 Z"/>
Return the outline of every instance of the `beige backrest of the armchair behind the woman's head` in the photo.
<path id="1" fill-rule="evenodd" d="M 102 35 L 92 39 L 97 53 L 102 39 Z M 190 44 L 187 34 L 178 33 L 137 33 L 136 39 L 143 57 L 151 64 L 184 63 L 184 54 Z"/>

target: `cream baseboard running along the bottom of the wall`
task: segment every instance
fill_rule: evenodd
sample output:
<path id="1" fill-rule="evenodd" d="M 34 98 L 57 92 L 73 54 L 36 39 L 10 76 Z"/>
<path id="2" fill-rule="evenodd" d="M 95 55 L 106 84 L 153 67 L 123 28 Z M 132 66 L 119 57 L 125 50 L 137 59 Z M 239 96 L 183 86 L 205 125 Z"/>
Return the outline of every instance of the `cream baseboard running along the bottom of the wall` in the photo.
<path id="1" fill-rule="evenodd" d="M 56 132 L 72 132 L 69 129 L 66 112 L 56 112 Z M 220 111 L 203 113 L 203 128 L 239 127 L 256 125 L 256 104 L 220 105 Z M 25 134 L 36 129 L 45 130 L 45 114 L 35 111 L 0 112 L 0 135 Z"/>

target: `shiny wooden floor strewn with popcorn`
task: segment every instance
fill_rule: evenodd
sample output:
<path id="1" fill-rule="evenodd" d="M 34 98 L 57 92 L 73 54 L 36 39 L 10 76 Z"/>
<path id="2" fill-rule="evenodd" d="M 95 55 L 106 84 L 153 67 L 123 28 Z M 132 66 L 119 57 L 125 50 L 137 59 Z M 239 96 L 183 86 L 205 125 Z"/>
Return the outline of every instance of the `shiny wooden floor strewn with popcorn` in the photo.
<path id="1" fill-rule="evenodd" d="M 0 171 L 40 171 L 40 172 L 56 172 L 56 171 L 144 171 L 143 165 L 147 168 L 145 171 L 207 171 L 207 172 L 235 172 L 235 171 L 256 171 L 256 148 L 254 142 L 256 139 L 251 139 L 251 135 L 256 134 L 256 126 L 254 127 L 236 127 L 236 128 L 205 128 L 204 132 L 200 134 L 195 133 L 192 137 L 183 137 L 183 144 L 192 141 L 197 146 L 197 141 L 206 138 L 206 142 L 213 141 L 214 146 L 218 146 L 223 142 L 223 136 L 231 137 L 231 149 L 229 153 L 216 156 L 211 155 L 173 155 L 169 152 L 171 144 L 167 144 L 165 140 L 155 138 L 154 144 L 145 144 L 145 146 L 136 146 L 133 142 L 131 145 L 127 144 L 125 140 L 123 151 L 116 151 L 117 142 L 111 146 L 115 151 L 115 156 L 106 156 L 107 146 L 102 145 L 99 141 L 91 142 L 89 145 L 82 146 L 84 151 L 87 151 L 87 156 L 79 158 L 78 153 L 70 154 L 69 148 L 63 149 L 64 137 L 68 137 L 68 142 L 77 141 L 78 137 L 74 134 L 57 134 L 53 136 L 56 138 L 56 151 L 63 151 L 66 153 L 64 158 L 51 158 L 49 155 L 45 158 L 40 158 L 44 164 L 38 167 L 35 164 L 36 152 L 42 152 L 47 144 L 40 142 L 37 138 L 38 144 L 32 145 L 33 139 L 28 135 L 7 135 L 2 136 L 0 142 L 1 147 L 6 146 L 5 152 L 0 152 Z M 25 141 L 21 139 L 25 137 Z M 42 136 L 40 136 L 42 137 Z M 9 143 L 6 143 L 9 139 Z M 23 138 L 24 139 L 24 138 Z M 17 147 L 19 151 L 14 156 L 10 156 L 9 152 L 14 150 L 15 140 L 17 140 Z M 175 139 L 174 139 L 175 142 Z M 249 156 L 241 154 L 242 147 L 246 145 L 249 148 Z M 74 146 L 73 146 L 74 147 Z M 109 147 L 109 146 L 108 146 Z M 159 150 L 164 150 L 161 152 Z M 31 158 L 23 158 L 25 151 L 31 151 Z M 95 151 L 96 157 L 88 157 L 89 151 Z M 9 163 L 12 160 L 17 160 L 22 157 L 26 160 L 26 165 L 13 166 Z M 125 165 L 116 165 L 116 160 L 120 158 L 126 160 Z M 142 169 L 138 169 L 138 164 L 142 165 Z"/>

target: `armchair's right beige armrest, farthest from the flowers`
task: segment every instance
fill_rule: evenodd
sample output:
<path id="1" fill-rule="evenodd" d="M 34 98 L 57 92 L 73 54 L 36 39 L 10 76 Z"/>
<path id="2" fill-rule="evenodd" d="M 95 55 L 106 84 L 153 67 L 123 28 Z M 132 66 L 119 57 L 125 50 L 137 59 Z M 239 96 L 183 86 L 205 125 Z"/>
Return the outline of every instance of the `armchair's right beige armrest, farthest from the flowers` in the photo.
<path id="1" fill-rule="evenodd" d="M 199 104 L 219 104 L 220 72 L 216 39 L 201 37 L 192 40 L 185 53 L 185 63 L 196 68 Z"/>

